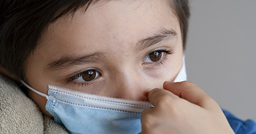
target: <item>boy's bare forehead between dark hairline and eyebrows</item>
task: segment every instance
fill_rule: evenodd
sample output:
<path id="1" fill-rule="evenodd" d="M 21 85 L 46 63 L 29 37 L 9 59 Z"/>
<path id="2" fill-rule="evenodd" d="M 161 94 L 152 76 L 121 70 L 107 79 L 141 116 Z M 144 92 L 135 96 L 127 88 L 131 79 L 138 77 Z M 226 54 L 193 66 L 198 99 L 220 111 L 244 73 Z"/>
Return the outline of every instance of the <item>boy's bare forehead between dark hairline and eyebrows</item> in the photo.
<path id="1" fill-rule="evenodd" d="M 170 10 L 162 0 L 99 1 L 90 5 L 86 12 L 81 8 L 73 16 L 62 16 L 50 24 L 38 46 L 66 49 L 72 47 L 70 44 L 77 44 L 72 50 L 80 49 L 79 46 L 94 49 L 111 44 L 127 44 L 124 47 L 128 47 L 163 29 L 180 35 L 178 19 Z"/>

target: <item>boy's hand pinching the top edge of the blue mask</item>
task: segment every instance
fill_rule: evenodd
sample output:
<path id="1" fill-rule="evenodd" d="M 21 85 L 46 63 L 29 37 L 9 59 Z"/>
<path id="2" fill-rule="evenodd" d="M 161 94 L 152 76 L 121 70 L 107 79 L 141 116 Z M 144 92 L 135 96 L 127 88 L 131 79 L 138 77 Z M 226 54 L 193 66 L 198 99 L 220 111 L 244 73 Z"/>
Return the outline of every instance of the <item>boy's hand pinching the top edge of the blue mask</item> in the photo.
<path id="1" fill-rule="evenodd" d="M 234 133 L 219 105 L 192 82 L 165 82 L 148 99 L 154 107 L 141 115 L 141 134 Z"/>

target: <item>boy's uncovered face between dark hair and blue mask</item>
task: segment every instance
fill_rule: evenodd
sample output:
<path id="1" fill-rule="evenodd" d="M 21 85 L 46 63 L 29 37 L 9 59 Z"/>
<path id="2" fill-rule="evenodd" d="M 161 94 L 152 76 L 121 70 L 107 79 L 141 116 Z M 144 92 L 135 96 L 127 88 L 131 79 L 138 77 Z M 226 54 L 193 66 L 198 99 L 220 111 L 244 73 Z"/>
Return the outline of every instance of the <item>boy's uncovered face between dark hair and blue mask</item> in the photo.
<path id="1" fill-rule="evenodd" d="M 146 101 L 183 65 L 181 30 L 171 11 L 170 0 L 99 1 L 63 16 L 25 63 L 29 85 L 45 94 L 55 85 Z M 29 96 L 45 111 L 44 97 Z"/>

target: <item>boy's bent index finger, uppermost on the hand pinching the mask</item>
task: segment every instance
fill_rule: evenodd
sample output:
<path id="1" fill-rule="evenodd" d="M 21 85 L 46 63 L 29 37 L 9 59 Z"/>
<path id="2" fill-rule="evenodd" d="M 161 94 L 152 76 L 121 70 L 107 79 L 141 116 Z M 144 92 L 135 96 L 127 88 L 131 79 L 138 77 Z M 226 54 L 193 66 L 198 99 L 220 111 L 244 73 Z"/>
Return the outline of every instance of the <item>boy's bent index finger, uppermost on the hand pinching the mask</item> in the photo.
<path id="1" fill-rule="evenodd" d="M 171 93 L 179 96 L 187 101 L 199 105 L 203 108 L 212 108 L 212 105 L 217 103 L 201 90 L 195 83 L 185 82 L 164 82 L 164 89 L 171 91 Z"/>

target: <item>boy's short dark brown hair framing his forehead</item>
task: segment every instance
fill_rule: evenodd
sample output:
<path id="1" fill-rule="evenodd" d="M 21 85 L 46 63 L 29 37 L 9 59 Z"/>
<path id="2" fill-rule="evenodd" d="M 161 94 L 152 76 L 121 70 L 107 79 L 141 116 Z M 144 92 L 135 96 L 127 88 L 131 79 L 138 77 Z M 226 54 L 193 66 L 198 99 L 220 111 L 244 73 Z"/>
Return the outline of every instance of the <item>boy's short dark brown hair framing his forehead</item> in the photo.
<path id="1" fill-rule="evenodd" d="M 50 23 L 67 13 L 99 0 L 5 0 L 0 1 L 0 66 L 18 79 L 24 79 L 23 66 L 34 51 L 42 32 Z M 170 0 L 178 17 L 186 44 L 190 16 L 188 0 Z"/>

